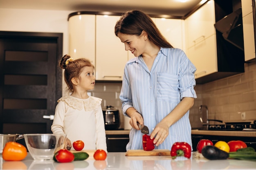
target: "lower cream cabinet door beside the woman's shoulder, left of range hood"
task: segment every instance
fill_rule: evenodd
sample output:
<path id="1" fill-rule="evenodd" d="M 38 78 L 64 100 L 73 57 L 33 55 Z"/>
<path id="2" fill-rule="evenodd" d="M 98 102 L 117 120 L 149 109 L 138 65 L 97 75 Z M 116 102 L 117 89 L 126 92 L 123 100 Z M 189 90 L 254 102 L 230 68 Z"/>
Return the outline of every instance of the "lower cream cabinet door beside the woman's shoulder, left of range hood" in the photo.
<path id="1" fill-rule="evenodd" d="M 188 56 L 197 69 L 195 78 L 218 72 L 216 35 L 211 35 L 189 48 Z"/>

